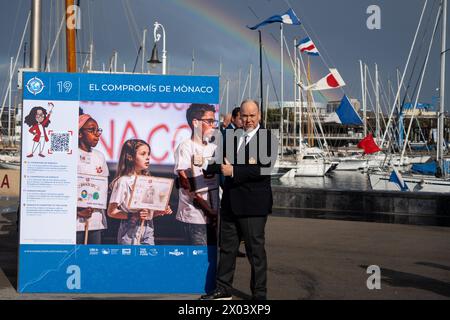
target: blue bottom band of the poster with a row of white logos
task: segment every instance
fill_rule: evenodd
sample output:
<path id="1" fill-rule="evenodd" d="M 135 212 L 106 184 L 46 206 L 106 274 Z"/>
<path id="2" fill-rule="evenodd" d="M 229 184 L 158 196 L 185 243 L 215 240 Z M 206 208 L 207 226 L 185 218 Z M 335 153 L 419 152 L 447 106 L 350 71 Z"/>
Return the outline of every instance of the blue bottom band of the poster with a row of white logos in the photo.
<path id="1" fill-rule="evenodd" d="M 215 246 L 20 245 L 20 293 L 191 293 L 213 289 Z"/>

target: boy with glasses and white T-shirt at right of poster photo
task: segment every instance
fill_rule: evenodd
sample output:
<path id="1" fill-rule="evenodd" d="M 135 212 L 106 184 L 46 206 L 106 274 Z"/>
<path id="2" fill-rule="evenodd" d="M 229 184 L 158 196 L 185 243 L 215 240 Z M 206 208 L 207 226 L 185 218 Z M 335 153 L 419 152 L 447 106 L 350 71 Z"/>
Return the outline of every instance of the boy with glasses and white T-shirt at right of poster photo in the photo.
<path id="1" fill-rule="evenodd" d="M 174 173 L 180 182 L 176 219 L 183 223 L 187 245 L 217 243 L 214 225 L 219 210 L 219 183 L 215 175 L 204 176 L 202 170 L 216 149 L 208 142 L 217 127 L 214 113 L 212 105 L 191 104 L 186 111 L 191 138 L 182 141 L 175 151 Z"/>

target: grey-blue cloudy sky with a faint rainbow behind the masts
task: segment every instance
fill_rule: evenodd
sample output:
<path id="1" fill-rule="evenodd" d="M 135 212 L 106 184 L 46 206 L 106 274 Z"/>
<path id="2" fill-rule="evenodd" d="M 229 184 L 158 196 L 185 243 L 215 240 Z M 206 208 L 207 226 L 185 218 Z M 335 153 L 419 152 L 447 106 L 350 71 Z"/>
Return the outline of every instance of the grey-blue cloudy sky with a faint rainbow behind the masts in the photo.
<path id="1" fill-rule="evenodd" d="M 31 0 L 0 0 L 0 92 L 7 85 L 10 57 L 15 57 L 20 44 Z M 416 70 L 411 87 L 414 88 L 420 74 L 426 50 L 431 38 L 440 0 L 428 0 L 418 44 L 411 65 L 416 61 Z M 56 32 L 63 14 L 62 0 L 42 0 L 42 62 L 45 53 L 55 41 Z M 222 85 L 229 80 L 229 108 L 243 95 L 250 65 L 253 67 L 251 95 L 259 95 L 258 33 L 246 28 L 265 18 L 282 14 L 292 7 L 302 26 L 284 26 L 286 42 L 293 51 L 294 39 L 306 37 L 305 31 L 316 43 L 322 58 L 311 58 L 312 80 L 327 73 L 327 67 L 335 67 L 347 83 L 343 90 L 326 92 L 329 99 L 340 99 L 343 93 L 360 98 L 359 60 L 370 68 L 375 80 L 374 64 L 377 63 L 382 81 L 382 103 L 387 109 L 387 100 L 392 99 L 388 80 L 396 83 L 396 69 L 403 71 L 410 46 L 419 22 L 425 0 L 81 0 L 81 29 L 77 35 L 78 66 L 86 59 L 85 52 L 92 41 L 95 46 L 94 68 L 108 68 L 114 50 L 118 51 L 118 68 L 133 69 L 142 38 L 147 28 L 147 54 L 149 59 L 153 45 L 153 23 L 164 25 L 169 72 L 188 74 L 191 71 L 194 53 L 195 70 L 198 75 L 218 74 L 222 65 Z M 366 13 L 370 5 L 381 9 L 381 29 L 369 30 Z M 279 24 L 263 27 L 265 55 L 263 59 L 264 88 L 270 85 L 269 100 L 280 95 L 280 32 Z M 440 28 L 432 47 L 427 74 L 420 101 L 432 102 L 439 87 Z M 25 36 L 29 47 L 29 33 Z M 64 71 L 64 34 L 51 60 L 52 71 Z M 450 45 L 447 45 L 448 47 Z M 161 47 L 159 47 L 161 55 Z M 285 51 L 284 83 L 285 100 L 293 99 L 293 71 Z M 447 59 L 447 73 L 450 58 Z M 306 61 L 306 58 L 305 58 Z M 28 63 L 28 57 L 26 59 Z M 18 67 L 23 64 L 23 51 L 19 55 Z M 147 66 L 146 66 L 147 68 Z M 137 71 L 141 70 L 138 61 Z M 411 70 L 411 69 L 410 69 Z M 153 72 L 160 72 L 155 69 Z M 239 88 L 241 74 L 241 91 Z M 406 80 L 409 79 L 409 74 Z M 15 80 L 16 81 L 16 80 Z M 450 78 L 447 77 L 450 84 Z M 223 87 L 222 86 L 222 87 Z M 447 101 L 450 85 L 447 85 Z M 369 88 L 371 83 L 369 80 Z M 248 89 L 248 84 L 247 84 Z M 394 87 L 395 90 L 395 87 Z M 247 94 L 245 94 L 247 96 Z M 225 104 L 225 95 L 223 105 Z M 449 105 L 449 103 L 447 103 Z M 448 109 L 448 108 L 447 108 Z"/>

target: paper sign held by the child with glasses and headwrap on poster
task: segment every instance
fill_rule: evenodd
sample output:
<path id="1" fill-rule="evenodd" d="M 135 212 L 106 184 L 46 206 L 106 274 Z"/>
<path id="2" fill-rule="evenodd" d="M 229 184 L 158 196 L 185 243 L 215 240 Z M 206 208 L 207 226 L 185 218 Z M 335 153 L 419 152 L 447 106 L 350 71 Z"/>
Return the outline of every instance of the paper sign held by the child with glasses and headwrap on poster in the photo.
<path id="1" fill-rule="evenodd" d="M 80 208 L 106 209 L 108 177 L 78 174 L 78 203 Z"/>

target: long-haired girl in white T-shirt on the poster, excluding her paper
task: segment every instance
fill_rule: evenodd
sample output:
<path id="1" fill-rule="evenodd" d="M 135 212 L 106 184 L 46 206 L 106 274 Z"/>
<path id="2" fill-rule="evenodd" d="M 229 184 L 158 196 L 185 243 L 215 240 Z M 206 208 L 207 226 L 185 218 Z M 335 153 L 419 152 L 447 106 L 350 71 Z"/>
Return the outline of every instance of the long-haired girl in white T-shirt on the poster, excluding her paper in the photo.
<path id="1" fill-rule="evenodd" d="M 150 146 L 139 139 L 125 141 L 120 152 L 117 174 L 113 182 L 108 216 L 122 220 L 117 235 L 118 244 L 122 245 L 154 245 L 153 218 L 171 214 L 168 206 L 165 211 L 148 209 L 130 209 L 136 176 L 150 176 Z"/>

